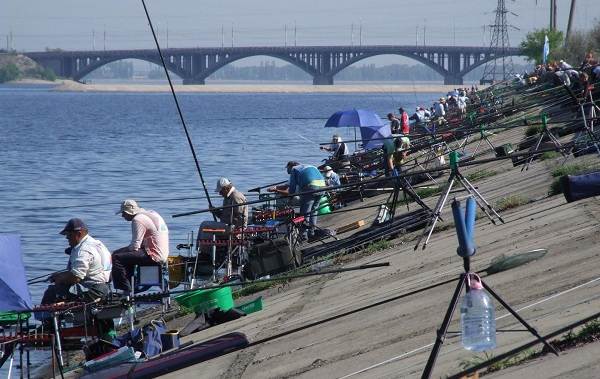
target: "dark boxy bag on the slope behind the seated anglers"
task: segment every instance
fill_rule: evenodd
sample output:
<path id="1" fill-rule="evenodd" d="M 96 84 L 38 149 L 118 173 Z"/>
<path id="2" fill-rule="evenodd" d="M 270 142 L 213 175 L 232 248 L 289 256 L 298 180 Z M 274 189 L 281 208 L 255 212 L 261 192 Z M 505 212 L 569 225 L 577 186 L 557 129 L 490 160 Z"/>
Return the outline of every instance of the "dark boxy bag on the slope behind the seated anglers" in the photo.
<path id="1" fill-rule="evenodd" d="M 249 259 L 250 270 L 257 278 L 288 271 L 296 266 L 294 253 L 284 238 L 254 245 L 250 250 Z"/>

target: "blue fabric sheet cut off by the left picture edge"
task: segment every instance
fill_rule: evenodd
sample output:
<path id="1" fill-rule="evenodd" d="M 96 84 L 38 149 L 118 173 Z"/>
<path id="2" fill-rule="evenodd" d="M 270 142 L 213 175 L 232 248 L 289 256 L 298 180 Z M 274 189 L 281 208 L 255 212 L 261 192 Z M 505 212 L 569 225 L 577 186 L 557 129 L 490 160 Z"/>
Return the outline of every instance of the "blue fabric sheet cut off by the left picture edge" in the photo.
<path id="1" fill-rule="evenodd" d="M 32 308 L 31 295 L 16 234 L 0 234 L 0 312 Z"/>

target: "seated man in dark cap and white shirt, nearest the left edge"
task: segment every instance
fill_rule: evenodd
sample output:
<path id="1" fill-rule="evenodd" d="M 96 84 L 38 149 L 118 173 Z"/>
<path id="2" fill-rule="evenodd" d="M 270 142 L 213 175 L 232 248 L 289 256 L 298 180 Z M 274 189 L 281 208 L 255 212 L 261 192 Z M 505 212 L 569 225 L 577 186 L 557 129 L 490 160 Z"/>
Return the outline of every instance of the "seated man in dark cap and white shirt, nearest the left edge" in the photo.
<path id="1" fill-rule="evenodd" d="M 42 304 L 59 301 L 91 302 L 104 299 L 110 289 L 111 256 L 104 244 L 88 234 L 87 225 L 80 218 L 70 219 L 60 234 L 69 241 L 69 262 L 65 271 L 50 275 L 54 284 L 48 286 L 42 297 Z M 77 294 L 69 292 L 73 285 L 81 285 L 85 291 Z"/>

